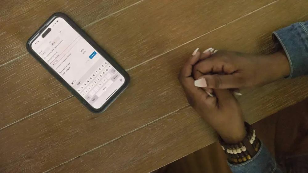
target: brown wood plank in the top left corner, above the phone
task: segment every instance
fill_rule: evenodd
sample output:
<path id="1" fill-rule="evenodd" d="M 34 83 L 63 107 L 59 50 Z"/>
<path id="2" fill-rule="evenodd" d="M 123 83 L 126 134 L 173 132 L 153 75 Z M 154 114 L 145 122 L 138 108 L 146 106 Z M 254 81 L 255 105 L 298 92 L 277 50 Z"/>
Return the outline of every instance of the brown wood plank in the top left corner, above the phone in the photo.
<path id="1" fill-rule="evenodd" d="M 27 53 L 26 41 L 53 13 L 66 13 L 83 27 L 138 1 L 90 0 L 85 4 L 82 0 L 2 0 L 0 65 Z"/>

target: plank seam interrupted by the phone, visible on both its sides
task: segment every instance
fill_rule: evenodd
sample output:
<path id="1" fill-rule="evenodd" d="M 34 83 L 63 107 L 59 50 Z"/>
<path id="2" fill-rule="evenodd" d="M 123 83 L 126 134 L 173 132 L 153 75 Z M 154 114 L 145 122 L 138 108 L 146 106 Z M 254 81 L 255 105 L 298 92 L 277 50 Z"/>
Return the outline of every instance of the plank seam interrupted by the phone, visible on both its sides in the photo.
<path id="1" fill-rule="evenodd" d="M 140 3 L 140 2 L 142 2 L 142 1 L 144 1 L 144 0 L 141 0 L 141 1 L 136 2 L 136 3 Z M 275 1 L 271 2 L 271 3 L 269 3 L 269 4 L 266 4 L 265 6 L 262 6 L 262 7 L 258 8 L 258 9 L 256 9 L 256 10 L 253 10 L 253 11 L 251 11 L 251 12 L 249 12 L 249 13 L 247 13 L 247 14 L 241 16 L 241 17 L 239 17 L 239 18 L 236 18 L 236 19 L 234 19 L 234 20 L 232 20 L 232 21 L 230 21 L 230 22 L 227 22 L 227 23 L 225 23 L 224 25 L 221 25 L 221 26 L 219 26 L 219 27 L 217 27 L 217 28 L 215 28 L 215 29 L 213 29 L 213 30 L 207 32 L 207 33 L 204 33 L 204 34 L 202 34 L 202 35 L 200 35 L 200 36 L 198 36 L 198 37 L 195 37 L 195 38 L 193 38 L 193 39 L 190 40 L 190 41 L 187 41 L 187 42 L 185 42 L 185 43 L 183 43 L 183 44 L 181 44 L 181 45 L 179 45 L 179 46 L 176 46 L 176 47 L 174 47 L 174 48 L 172 48 L 172 49 L 170 49 L 170 50 L 168 50 L 168 51 L 165 51 L 165 52 L 163 52 L 163 53 L 161 53 L 161 54 L 159 54 L 159 55 L 157 55 L 157 56 L 154 56 L 154 57 L 152 57 L 152 58 L 150 58 L 150 59 L 148 59 L 148 60 L 146 60 L 146 61 L 144 61 L 144 62 L 141 62 L 141 63 L 138 64 L 138 65 L 135 65 L 135 66 L 133 66 L 133 67 L 131 67 L 131 68 L 129 68 L 129 69 L 126 69 L 126 71 L 130 71 L 130 70 L 132 70 L 132 69 L 134 69 L 134 68 L 136 68 L 136 67 L 139 67 L 140 65 L 143 65 L 143 64 L 145 64 L 145 63 L 147 63 L 147 62 L 149 62 L 149 61 L 155 60 L 156 58 L 158 58 L 158 57 L 160 57 L 160 56 L 162 56 L 162 55 L 164 55 L 164 54 L 166 54 L 166 53 L 169 53 L 169 52 L 171 52 L 172 50 L 175 50 L 175 49 L 177 49 L 177 48 L 180 48 L 181 46 L 186 45 L 186 44 L 188 44 L 188 43 L 190 43 L 190 42 L 192 42 L 192 41 L 195 41 L 195 40 L 197 40 L 198 38 L 204 37 L 205 35 L 207 35 L 207 34 L 209 34 L 209 33 L 212 33 L 212 32 L 214 32 L 214 31 L 216 31 L 217 29 L 223 28 L 223 27 L 225 27 L 225 26 L 227 26 L 227 25 L 229 25 L 229 24 L 231 24 L 231 23 L 233 23 L 233 22 L 236 22 L 236 21 L 240 20 L 241 18 L 245 18 L 246 16 L 249 16 L 250 14 L 253 14 L 253 13 L 255 13 L 255 12 L 257 12 L 257 11 L 259 11 L 259 10 L 261 10 L 261 9 L 263 9 L 263 8 L 265 8 L 265 7 L 267 7 L 267 6 L 270 6 L 270 5 L 272 5 L 272 4 L 276 3 L 276 2 L 278 2 L 278 1 L 280 1 L 280 0 L 275 0 Z M 135 3 L 135 5 L 136 5 L 136 3 Z M 88 24 L 88 25 L 90 25 L 90 24 Z M 22 56 L 23 56 L 23 55 L 22 55 Z M 12 61 L 13 61 L 13 60 L 12 60 Z M 1 65 L 0 65 L 0 67 L 1 67 Z M 52 106 L 55 106 L 56 104 L 61 103 L 61 102 L 65 101 L 65 100 L 67 100 L 67 99 L 69 99 L 69 98 L 71 98 L 71 97 L 73 97 L 73 95 L 68 96 L 67 98 L 65 98 L 65 99 L 63 99 L 63 100 L 60 100 L 60 101 L 58 101 L 58 102 L 56 102 L 56 103 L 54 103 L 54 104 L 51 104 L 50 106 L 48 106 L 48 107 L 46 107 L 46 108 L 43 108 L 43 109 L 41 109 L 41 110 L 39 110 L 39 111 L 37 111 L 37 112 L 34 112 L 34 113 L 32 113 L 32 114 L 30 114 L 30 115 L 28 115 L 28 116 L 26 116 L 26 117 L 24 117 L 24 118 L 22 118 L 22 119 L 20 119 L 20 120 L 17 120 L 17 121 L 15 121 L 15 122 L 11 123 L 11 124 L 8 124 L 8 125 L 6 125 L 5 127 L 0 128 L 0 131 L 3 130 L 3 129 L 5 129 L 5 128 L 10 127 L 10 126 L 13 125 L 13 124 L 16 124 L 16 123 L 20 122 L 20 121 L 22 121 L 22 120 L 27 119 L 27 118 L 29 118 L 29 117 L 35 115 L 36 113 L 42 112 L 43 110 L 46 110 L 47 108 L 51 108 Z"/>

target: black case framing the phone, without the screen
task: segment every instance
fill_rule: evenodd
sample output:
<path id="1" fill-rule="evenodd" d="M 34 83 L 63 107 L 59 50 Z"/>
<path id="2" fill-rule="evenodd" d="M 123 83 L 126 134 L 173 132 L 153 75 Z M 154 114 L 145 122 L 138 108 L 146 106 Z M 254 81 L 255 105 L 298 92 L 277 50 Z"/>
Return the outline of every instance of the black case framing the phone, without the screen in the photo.
<path id="1" fill-rule="evenodd" d="M 69 85 L 60 75 L 53 70 L 34 50 L 31 48 L 33 41 L 41 34 L 41 31 L 44 31 L 46 27 L 53 22 L 55 18 L 63 18 L 72 28 L 74 28 L 94 49 L 97 50 L 121 75 L 123 75 L 125 81 L 124 84 L 107 100 L 102 107 L 96 109 L 93 108 L 71 85 Z M 46 27 L 45 27 L 46 26 Z M 98 44 L 95 43 L 88 35 L 85 33 L 75 22 L 73 22 L 66 14 L 64 13 L 55 13 L 51 15 L 50 18 L 29 38 L 26 43 L 28 52 L 37 60 L 45 69 L 48 70 L 58 81 L 62 83 L 80 102 L 85 105 L 91 112 L 100 113 L 103 112 L 128 86 L 130 77 L 128 73 L 112 58 L 106 53 Z"/>

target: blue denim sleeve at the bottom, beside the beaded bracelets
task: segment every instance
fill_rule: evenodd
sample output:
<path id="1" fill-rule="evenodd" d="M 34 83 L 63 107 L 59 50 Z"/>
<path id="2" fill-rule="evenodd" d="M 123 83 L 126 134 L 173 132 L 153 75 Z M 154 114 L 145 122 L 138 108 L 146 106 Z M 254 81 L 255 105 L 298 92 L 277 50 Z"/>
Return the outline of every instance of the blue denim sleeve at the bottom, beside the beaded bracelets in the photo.
<path id="1" fill-rule="evenodd" d="M 253 158 L 237 165 L 228 162 L 228 165 L 233 173 L 282 173 L 262 142 L 260 150 Z"/>

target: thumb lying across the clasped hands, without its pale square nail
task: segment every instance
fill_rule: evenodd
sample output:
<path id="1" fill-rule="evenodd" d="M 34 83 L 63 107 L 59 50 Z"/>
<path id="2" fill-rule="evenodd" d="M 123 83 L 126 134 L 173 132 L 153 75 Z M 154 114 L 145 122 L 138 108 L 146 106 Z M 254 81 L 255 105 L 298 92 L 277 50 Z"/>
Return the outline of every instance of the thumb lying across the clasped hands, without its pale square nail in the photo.
<path id="1" fill-rule="evenodd" d="M 234 74 L 213 74 L 203 75 L 200 78 L 205 78 L 208 88 L 227 89 L 227 88 L 242 88 L 241 78 Z"/>

